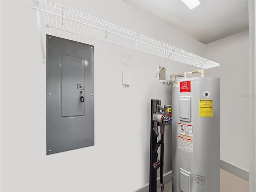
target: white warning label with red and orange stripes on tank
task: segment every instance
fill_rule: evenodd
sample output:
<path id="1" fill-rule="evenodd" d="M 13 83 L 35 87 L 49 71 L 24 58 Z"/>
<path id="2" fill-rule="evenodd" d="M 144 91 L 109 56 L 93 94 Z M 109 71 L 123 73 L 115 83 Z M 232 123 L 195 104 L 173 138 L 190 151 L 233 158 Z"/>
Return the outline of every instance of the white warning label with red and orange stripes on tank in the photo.
<path id="1" fill-rule="evenodd" d="M 193 126 L 178 123 L 178 148 L 193 152 Z"/>

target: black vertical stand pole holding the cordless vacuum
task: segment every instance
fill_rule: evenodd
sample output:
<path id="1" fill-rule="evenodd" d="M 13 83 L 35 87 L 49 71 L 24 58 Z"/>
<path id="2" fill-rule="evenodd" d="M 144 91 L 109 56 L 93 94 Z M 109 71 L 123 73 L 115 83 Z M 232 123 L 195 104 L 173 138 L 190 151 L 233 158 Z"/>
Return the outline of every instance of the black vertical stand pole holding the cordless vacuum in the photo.
<path id="1" fill-rule="evenodd" d="M 151 126 L 150 126 L 150 174 L 149 174 L 149 192 L 156 192 L 156 170 L 153 168 L 153 163 L 156 162 L 156 152 L 154 151 L 157 143 L 157 136 L 154 134 L 155 122 L 152 120 L 153 114 L 157 112 L 157 105 L 160 105 L 160 100 L 151 100 Z"/>

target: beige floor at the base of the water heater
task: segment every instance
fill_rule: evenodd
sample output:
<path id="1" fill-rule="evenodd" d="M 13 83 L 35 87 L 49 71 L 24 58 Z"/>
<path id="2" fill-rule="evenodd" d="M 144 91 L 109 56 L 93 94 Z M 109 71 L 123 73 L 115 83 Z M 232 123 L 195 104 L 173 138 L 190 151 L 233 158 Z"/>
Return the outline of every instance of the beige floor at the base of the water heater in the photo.
<path id="1" fill-rule="evenodd" d="M 172 191 L 172 182 L 164 185 L 164 192 Z M 161 192 L 161 188 L 157 190 Z M 249 182 L 220 169 L 220 192 L 249 192 Z"/>

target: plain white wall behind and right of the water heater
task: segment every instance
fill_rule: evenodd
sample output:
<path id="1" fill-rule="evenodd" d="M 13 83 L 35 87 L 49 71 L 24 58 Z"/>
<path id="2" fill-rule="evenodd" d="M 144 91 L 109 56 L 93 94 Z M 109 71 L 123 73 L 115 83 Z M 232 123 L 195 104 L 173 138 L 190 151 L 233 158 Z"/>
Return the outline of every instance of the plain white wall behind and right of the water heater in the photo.
<path id="1" fill-rule="evenodd" d="M 205 57 L 220 63 L 220 158 L 249 170 L 248 30 L 206 44 Z"/>

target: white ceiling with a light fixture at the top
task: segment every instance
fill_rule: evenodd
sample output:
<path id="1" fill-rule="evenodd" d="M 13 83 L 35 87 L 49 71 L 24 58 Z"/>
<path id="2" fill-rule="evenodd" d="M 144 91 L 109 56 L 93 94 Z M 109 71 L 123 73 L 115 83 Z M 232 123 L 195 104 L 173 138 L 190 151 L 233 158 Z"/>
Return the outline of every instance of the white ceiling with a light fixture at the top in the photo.
<path id="1" fill-rule="evenodd" d="M 199 0 L 190 10 L 180 0 L 124 0 L 188 36 L 208 44 L 248 29 L 247 0 Z"/>

